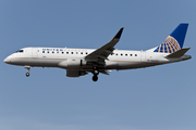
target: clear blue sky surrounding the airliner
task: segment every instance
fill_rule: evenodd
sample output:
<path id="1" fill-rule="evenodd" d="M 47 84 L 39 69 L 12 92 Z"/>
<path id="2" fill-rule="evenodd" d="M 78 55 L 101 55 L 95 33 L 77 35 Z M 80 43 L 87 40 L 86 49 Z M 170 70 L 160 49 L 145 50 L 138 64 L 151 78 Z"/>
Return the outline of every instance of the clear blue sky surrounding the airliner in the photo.
<path id="1" fill-rule="evenodd" d="M 1 0 L 1 130 L 196 130 L 195 0 Z M 24 47 L 97 49 L 124 27 L 117 49 L 159 46 L 189 23 L 193 58 L 68 78 L 60 68 L 3 63 Z"/>

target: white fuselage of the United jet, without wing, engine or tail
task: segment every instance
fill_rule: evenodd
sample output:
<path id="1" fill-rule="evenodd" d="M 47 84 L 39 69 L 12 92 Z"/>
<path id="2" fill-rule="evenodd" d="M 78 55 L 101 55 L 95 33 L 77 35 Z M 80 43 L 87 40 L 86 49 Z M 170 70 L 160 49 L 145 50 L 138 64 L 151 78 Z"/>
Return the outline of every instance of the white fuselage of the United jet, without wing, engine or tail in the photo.
<path id="1" fill-rule="evenodd" d="M 20 66 L 60 67 L 64 69 L 91 72 L 93 66 L 86 64 L 85 56 L 94 52 L 94 49 L 70 49 L 70 48 L 23 48 L 22 51 L 8 56 L 4 62 Z M 101 70 L 132 69 L 149 67 L 172 62 L 191 58 L 183 55 L 176 58 L 166 58 L 169 53 L 151 51 L 126 51 L 114 50 L 108 56 L 106 65 L 99 67 Z"/>

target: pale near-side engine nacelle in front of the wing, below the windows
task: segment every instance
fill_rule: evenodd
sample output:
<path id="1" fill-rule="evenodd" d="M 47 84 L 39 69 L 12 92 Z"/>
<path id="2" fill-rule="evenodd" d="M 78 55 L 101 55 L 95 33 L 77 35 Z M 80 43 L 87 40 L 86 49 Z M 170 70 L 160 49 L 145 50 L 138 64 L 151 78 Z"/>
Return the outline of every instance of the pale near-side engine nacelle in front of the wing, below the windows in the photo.
<path id="1" fill-rule="evenodd" d="M 81 60 L 81 58 L 68 58 L 66 61 L 62 61 L 61 63 L 59 63 L 60 67 L 63 68 L 78 68 L 86 65 L 86 61 L 85 60 Z"/>

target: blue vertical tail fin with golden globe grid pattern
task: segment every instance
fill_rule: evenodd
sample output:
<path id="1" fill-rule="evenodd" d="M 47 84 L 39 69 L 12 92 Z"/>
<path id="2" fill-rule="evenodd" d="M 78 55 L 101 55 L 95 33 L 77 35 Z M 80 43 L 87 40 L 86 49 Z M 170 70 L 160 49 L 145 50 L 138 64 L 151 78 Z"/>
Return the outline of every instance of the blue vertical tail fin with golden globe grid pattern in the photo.
<path id="1" fill-rule="evenodd" d="M 181 50 L 184 44 L 188 24 L 180 24 L 154 52 L 173 53 Z"/>

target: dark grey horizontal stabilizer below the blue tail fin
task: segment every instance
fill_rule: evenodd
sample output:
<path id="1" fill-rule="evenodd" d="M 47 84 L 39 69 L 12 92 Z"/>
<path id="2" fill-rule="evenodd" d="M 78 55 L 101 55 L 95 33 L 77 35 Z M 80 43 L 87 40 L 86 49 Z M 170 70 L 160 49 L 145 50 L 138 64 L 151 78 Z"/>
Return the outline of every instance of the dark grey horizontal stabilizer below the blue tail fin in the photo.
<path id="1" fill-rule="evenodd" d="M 177 50 L 176 52 L 173 52 L 169 55 L 167 55 L 167 58 L 172 58 L 172 57 L 181 57 L 183 56 L 191 48 L 183 48 L 181 50 Z"/>

